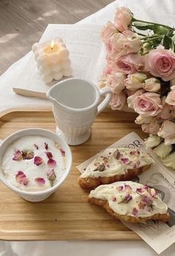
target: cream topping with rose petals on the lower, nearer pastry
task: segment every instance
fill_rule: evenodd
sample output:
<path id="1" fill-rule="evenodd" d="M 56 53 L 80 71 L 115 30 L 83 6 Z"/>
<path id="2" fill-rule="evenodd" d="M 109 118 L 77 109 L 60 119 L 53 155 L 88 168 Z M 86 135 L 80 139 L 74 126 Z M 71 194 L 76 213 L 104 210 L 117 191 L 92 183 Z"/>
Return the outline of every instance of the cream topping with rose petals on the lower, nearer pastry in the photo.
<path id="1" fill-rule="evenodd" d="M 121 190 L 120 186 L 124 187 L 124 184 L 129 185 L 131 190 L 128 187 L 127 189 L 123 188 Z M 107 200 L 109 207 L 120 215 L 147 217 L 153 216 L 156 213 L 167 213 L 167 205 L 162 202 L 158 194 L 155 195 L 155 190 L 150 188 L 145 189 L 144 187 L 147 188 L 147 186 L 133 181 L 118 181 L 113 184 L 97 187 L 91 191 L 89 197 Z M 136 192 L 137 189 L 143 190 L 141 195 Z M 150 191 L 153 196 L 150 195 Z M 128 199 L 130 199 L 129 202 L 127 202 Z"/>

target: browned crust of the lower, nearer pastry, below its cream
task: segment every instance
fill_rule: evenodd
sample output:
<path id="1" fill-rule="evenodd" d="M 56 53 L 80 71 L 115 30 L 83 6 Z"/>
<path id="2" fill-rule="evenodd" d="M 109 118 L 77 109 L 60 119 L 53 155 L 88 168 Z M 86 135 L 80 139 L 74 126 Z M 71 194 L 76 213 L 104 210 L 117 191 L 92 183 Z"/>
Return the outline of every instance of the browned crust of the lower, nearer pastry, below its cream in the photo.
<path id="1" fill-rule="evenodd" d="M 136 217 L 136 216 L 127 216 L 127 215 L 120 215 L 118 213 L 115 213 L 115 211 L 109 207 L 109 204 L 106 200 L 95 199 L 93 197 L 92 198 L 89 197 L 88 202 L 103 207 L 110 215 L 112 215 L 116 219 L 120 219 L 124 222 L 143 223 L 149 219 L 161 220 L 162 222 L 168 222 L 170 220 L 170 216 L 168 213 L 164 213 L 164 214 L 158 213 L 158 214 L 154 214 L 153 216 L 141 218 L 141 217 Z"/>

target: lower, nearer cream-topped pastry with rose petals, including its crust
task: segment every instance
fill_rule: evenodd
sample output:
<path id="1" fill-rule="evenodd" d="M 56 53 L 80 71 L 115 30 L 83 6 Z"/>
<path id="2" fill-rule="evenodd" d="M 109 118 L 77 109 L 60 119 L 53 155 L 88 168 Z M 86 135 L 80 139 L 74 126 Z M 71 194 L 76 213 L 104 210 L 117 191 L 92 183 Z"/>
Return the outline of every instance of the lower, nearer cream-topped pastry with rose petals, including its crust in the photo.
<path id="1" fill-rule="evenodd" d="M 156 190 L 133 181 L 101 185 L 89 194 L 88 201 L 125 222 L 146 222 L 149 219 L 168 222 L 168 207 Z"/>

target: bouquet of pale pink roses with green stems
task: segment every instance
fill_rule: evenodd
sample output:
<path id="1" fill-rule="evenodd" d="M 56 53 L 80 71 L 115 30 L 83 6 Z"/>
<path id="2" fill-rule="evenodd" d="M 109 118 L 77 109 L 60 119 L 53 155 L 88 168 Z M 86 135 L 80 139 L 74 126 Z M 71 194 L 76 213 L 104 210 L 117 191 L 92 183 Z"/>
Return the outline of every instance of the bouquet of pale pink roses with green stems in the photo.
<path id="1" fill-rule="evenodd" d="M 126 7 L 101 31 L 106 67 L 100 87 L 113 92 L 112 110 L 130 107 L 166 166 L 175 169 L 175 28 L 135 19 Z"/>

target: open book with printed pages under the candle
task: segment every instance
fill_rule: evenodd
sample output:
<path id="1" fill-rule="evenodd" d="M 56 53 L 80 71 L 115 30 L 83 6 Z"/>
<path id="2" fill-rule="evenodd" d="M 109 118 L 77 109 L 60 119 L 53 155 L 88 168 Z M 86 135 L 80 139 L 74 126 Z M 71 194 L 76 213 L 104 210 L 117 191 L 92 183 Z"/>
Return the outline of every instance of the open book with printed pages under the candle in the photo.
<path id="1" fill-rule="evenodd" d="M 39 42 L 61 37 L 70 52 L 72 77 L 84 78 L 98 84 L 105 65 L 105 51 L 100 33 L 101 26 L 98 25 L 49 24 Z M 42 81 L 32 54 L 19 75 L 13 91 L 25 96 L 45 98 L 48 89 L 56 83 L 57 81 L 52 81 L 50 84 L 45 84 Z"/>

